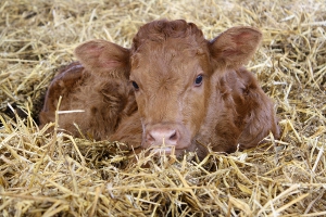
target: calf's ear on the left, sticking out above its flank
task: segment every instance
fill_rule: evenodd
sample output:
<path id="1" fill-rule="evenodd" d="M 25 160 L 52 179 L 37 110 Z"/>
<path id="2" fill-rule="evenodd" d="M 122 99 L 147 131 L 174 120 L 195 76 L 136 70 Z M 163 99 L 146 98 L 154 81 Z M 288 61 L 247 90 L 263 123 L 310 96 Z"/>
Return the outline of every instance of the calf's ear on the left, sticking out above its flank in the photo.
<path id="1" fill-rule="evenodd" d="M 86 69 L 96 74 L 129 67 L 129 50 L 106 40 L 82 43 L 75 49 L 75 55 Z"/>

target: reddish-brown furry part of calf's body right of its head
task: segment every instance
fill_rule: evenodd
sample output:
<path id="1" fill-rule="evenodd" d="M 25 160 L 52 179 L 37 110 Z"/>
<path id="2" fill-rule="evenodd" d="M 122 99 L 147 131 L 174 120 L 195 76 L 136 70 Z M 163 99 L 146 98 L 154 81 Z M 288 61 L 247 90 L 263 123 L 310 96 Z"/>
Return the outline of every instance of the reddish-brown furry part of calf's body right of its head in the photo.
<path id="1" fill-rule="evenodd" d="M 206 143 L 212 144 L 213 151 L 231 153 L 253 148 L 269 131 L 278 137 L 274 104 L 246 68 L 221 76 L 211 102 L 208 119 L 214 119 L 213 125 L 206 122 L 201 139 L 211 138 Z"/>

